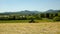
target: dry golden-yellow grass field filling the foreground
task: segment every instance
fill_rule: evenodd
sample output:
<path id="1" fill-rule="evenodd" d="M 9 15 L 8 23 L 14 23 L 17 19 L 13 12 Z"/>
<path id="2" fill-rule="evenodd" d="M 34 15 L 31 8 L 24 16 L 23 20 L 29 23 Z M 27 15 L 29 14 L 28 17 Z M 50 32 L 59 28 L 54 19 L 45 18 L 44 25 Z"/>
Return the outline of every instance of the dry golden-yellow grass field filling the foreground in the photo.
<path id="1" fill-rule="evenodd" d="M 0 34 L 60 34 L 60 22 L 0 23 Z"/>

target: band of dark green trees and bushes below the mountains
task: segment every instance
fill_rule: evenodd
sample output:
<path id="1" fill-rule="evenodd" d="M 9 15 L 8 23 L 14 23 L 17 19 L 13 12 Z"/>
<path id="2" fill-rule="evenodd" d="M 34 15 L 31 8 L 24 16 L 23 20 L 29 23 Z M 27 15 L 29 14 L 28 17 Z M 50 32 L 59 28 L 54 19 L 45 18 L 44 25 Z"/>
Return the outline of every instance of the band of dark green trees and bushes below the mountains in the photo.
<path id="1" fill-rule="evenodd" d="M 42 18 L 52 19 L 60 21 L 60 12 L 57 13 L 40 13 L 40 14 L 28 14 L 28 15 L 0 15 L 0 20 L 42 20 Z"/>

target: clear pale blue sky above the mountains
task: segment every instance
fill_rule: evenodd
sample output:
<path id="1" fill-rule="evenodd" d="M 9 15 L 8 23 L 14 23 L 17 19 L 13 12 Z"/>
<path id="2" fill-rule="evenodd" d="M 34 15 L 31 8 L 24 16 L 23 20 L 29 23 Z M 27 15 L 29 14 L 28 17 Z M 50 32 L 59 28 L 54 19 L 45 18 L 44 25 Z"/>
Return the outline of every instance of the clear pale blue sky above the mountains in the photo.
<path id="1" fill-rule="evenodd" d="M 0 0 L 0 12 L 60 10 L 60 0 Z"/>

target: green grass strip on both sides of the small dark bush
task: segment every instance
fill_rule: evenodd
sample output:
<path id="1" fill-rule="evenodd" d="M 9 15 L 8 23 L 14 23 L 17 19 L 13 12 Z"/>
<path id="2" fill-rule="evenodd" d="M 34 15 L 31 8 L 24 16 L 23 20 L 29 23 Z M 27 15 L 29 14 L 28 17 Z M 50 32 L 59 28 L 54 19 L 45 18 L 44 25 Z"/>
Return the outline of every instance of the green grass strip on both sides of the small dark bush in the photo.
<path id="1" fill-rule="evenodd" d="M 0 23 L 29 23 L 30 20 L 0 20 Z M 34 20 L 35 22 L 54 22 L 51 19 Z"/>

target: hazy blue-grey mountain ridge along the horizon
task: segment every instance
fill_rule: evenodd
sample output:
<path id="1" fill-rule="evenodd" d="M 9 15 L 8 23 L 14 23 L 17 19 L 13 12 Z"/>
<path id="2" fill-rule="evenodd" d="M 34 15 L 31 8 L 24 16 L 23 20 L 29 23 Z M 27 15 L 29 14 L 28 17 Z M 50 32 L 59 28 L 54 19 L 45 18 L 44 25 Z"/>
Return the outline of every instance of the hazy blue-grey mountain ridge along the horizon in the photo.
<path id="1" fill-rule="evenodd" d="M 24 11 L 18 11 L 18 12 L 4 12 L 4 13 L 0 13 L 0 14 L 39 14 L 39 13 L 57 13 L 60 12 L 60 10 L 47 10 L 45 12 L 40 12 L 40 11 L 29 11 L 29 10 L 24 10 Z"/>

